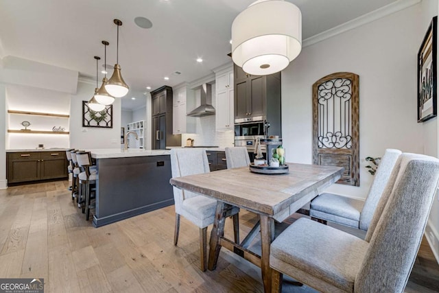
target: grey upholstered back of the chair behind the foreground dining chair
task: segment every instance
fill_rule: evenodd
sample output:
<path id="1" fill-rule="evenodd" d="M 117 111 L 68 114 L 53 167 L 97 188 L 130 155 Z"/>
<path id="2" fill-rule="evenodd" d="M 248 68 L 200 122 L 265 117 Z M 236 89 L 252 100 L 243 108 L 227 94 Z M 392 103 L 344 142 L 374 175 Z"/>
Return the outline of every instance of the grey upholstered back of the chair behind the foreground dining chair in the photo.
<path id="1" fill-rule="evenodd" d="M 379 163 L 375 178 L 370 185 L 369 193 L 364 202 L 364 207 L 361 210 L 359 217 L 359 228 L 364 231 L 368 231 L 372 216 L 377 209 L 381 194 L 383 194 L 386 183 L 390 178 L 392 169 L 396 163 L 396 160 L 401 154 L 400 150 L 387 149 L 384 152 L 381 162 Z"/>

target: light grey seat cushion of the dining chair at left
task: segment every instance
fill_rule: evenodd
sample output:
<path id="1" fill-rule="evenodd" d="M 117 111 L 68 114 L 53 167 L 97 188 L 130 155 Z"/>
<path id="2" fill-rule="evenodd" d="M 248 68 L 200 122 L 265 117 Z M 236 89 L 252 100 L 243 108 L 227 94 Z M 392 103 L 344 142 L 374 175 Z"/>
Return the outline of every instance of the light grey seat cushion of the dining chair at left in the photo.
<path id="1" fill-rule="evenodd" d="M 215 219 L 217 201 L 206 196 L 193 196 L 183 200 L 182 215 L 198 226 L 209 226 Z"/>

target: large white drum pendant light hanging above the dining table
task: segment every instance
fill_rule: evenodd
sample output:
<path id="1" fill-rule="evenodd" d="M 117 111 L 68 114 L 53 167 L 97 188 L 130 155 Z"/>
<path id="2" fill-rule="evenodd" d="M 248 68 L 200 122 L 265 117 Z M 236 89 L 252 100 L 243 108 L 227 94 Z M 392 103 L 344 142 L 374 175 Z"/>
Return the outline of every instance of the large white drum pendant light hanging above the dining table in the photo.
<path id="1" fill-rule="evenodd" d="M 282 71 L 302 49 L 302 13 L 293 3 L 259 0 L 232 24 L 233 62 L 249 74 Z"/>

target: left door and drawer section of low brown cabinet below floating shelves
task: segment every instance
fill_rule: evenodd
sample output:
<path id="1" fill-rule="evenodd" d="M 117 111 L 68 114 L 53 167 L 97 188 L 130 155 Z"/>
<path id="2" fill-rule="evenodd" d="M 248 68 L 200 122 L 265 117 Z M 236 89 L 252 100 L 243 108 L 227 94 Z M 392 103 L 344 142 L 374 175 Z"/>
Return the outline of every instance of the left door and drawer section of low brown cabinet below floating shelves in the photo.
<path id="1" fill-rule="evenodd" d="M 40 152 L 14 152 L 7 157 L 8 183 L 40 179 Z"/>

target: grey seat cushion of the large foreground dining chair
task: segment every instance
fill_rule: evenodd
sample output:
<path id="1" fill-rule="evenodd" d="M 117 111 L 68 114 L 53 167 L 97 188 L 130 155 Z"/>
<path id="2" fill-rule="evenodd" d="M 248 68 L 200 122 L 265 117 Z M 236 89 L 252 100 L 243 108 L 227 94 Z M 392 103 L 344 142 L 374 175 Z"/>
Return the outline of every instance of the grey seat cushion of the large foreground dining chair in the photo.
<path id="1" fill-rule="evenodd" d="M 353 292 L 368 246 L 351 234 L 300 218 L 272 242 L 270 266 L 326 292 Z"/>

